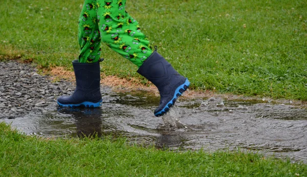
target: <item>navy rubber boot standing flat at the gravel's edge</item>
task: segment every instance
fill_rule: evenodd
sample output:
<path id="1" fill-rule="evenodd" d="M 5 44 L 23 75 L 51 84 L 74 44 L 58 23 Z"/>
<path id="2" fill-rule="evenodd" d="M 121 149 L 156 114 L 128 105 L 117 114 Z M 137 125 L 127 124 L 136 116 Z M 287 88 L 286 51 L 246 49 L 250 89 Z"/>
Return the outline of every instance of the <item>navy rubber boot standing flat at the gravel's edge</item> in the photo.
<path id="1" fill-rule="evenodd" d="M 76 89 L 70 96 L 60 96 L 57 103 L 69 107 L 99 107 L 102 103 L 100 93 L 100 65 L 73 61 L 76 76 Z"/>

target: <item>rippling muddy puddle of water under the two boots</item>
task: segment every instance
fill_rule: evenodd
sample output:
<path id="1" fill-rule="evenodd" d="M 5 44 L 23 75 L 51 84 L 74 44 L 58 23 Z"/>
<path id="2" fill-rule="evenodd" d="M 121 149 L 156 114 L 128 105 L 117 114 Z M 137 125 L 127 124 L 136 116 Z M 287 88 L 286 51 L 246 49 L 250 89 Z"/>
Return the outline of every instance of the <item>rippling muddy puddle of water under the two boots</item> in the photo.
<path id="1" fill-rule="evenodd" d="M 307 162 L 307 109 L 268 101 L 183 99 L 166 119 L 153 116 L 159 98 L 144 92 L 103 91 L 100 108 L 60 108 L 56 103 L 27 116 L 6 119 L 28 135 L 124 136 L 157 148 L 255 150 Z M 166 122 L 167 123 L 167 122 Z M 176 129 L 174 126 L 179 125 Z"/>

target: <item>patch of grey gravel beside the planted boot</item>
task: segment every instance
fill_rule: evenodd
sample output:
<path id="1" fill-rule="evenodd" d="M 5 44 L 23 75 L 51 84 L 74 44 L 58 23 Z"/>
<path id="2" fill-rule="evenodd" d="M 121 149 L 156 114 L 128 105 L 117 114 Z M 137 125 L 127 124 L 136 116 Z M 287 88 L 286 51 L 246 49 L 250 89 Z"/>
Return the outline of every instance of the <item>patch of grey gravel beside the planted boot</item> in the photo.
<path id="1" fill-rule="evenodd" d="M 54 82 L 50 76 L 39 75 L 33 64 L 0 62 L 0 119 L 56 106 L 58 96 L 69 95 L 74 89 L 68 81 Z"/>

